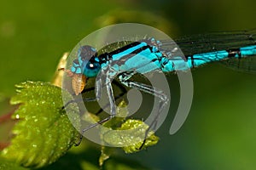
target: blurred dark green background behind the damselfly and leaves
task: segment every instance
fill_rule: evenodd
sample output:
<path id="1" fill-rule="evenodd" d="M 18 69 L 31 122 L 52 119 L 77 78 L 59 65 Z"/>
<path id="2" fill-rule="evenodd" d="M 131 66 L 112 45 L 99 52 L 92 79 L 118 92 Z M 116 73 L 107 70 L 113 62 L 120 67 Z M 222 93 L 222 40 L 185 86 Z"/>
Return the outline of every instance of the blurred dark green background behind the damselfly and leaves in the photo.
<path id="1" fill-rule="evenodd" d="M 2 1 L 1 112 L 16 83 L 51 81 L 61 55 L 102 26 L 138 22 L 171 37 L 246 30 L 256 27 L 255 8 L 254 0 Z M 159 144 L 120 157 L 153 169 L 255 169 L 256 76 L 211 64 L 193 77 L 193 105 L 178 133 L 169 135 L 171 111 L 156 133 Z"/>

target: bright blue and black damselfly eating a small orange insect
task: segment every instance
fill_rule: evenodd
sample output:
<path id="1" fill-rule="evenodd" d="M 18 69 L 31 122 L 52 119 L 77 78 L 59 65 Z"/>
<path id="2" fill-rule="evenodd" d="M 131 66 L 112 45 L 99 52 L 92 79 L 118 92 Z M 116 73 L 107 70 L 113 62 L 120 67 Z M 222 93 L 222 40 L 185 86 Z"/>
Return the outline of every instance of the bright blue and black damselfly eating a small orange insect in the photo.
<path id="1" fill-rule="evenodd" d="M 102 85 L 106 86 L 108 92 L 111 115 L 84 128 L 81 133 L 103 122 L 108 122 L 116 116 L 111 84 L 115 77 L 128 88 L 137 88 L 160 99 L 159 110 L 145 133 L 146 139 L 150 128 L 155 127 L 158 116 L 167 104 L 168 98 L 158 88 L 131 81 L 131 77 L 135 74 L 152 71 L 188 71 L 191 68 L 215 61 L 223 62 L 237 70 L 256 72 L 256 30 L 183 37 L 177 39 L 176 43 L 150 37 L 135 42 L 124 42 L 119 46 L 119 48 L 99 54 L 96 48 L 83 45 L 79 48 L 78 58 L 73 60 L 71 69 L 66 70 L 68 75 L 73 77 L 75 94 L 80 94 L 83 91 L 88 78 L 97 77 L 96 98 L 84 99 L 84 101 L 99 99 Z M 184 55 L 177 53 L 177 46 L 181 48 Z M 76 100 L 68 102 L 67 105 L 72 102 L 76 102 Z"/>

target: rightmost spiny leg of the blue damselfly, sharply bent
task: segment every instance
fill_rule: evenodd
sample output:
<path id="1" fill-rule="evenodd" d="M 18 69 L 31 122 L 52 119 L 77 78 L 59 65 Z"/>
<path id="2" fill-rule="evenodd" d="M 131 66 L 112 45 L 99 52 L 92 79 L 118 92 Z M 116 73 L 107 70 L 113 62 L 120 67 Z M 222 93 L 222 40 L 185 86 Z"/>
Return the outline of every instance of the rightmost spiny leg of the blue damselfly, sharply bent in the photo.
<path id="1" fill-rule="evenodd" d="M 148 129 L 146 130 L 145 132 L 145 137 L 143 139 L 143 144 L 140 146 L 139 150 L 141 150 L 143 148 L 143 145 L 145 144 L 146 142 L 146 139 L 147 139 L 147 136 L 148 136 L 148 133 L 151 129 L 151 127 L 155 128 L 156 125 L 157 125 L 157 121 L 158 121 L 158 117 L 160 116 L 160 112 L 164 109 L 164 107 L 166 106 L 166 104 L 168 103 L 168 98 L 166 96 L 166 94 L 163 93 L 163 91 L 161 91 L 160 89 L 157 89 L 157 88 L 154 88 L 154 87 L 151 87 L 151 86 L 148 86 L 146 84 L 143 84 L 143 83 L 140 83 L 140 82 L 131 82 L 129 80 L 124 80 L 121 77 L 119 77 L 120 79 L 120 82 L 122 82 L 123 84 L 125 84 L 125 86 L 127 87 L 130 87 L 130 88 L 137 88 L 138 90 L 140 91 L 143 91 L 145 93 L 148 93 L 148 94 L 152 94 L 154 96 L 156 96 L 157 98 L 160 99 L 160 106 L 159 106 L 159 110 L 156 114 L 156 116 L 154 117 L 154 120 L 153 122 L 151 122 L 148 126 Z"/>

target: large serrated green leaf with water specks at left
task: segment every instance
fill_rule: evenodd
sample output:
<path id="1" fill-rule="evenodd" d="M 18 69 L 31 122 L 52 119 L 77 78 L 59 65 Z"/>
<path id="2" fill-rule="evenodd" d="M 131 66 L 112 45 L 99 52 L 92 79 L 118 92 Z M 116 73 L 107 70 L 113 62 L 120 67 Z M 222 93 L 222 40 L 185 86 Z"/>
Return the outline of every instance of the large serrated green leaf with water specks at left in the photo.
<path id="1" fill-rule="evenodd" d="M 47 82 L 23 82 L 17 88 L 18 94 L 11 99 L 11 104 L 20 105 L 12 116 L 19 122 L 3 156 L 24 167 L 44 167 L 63 156 L 79 135 L 61 109 L 61 92 L 73 98 L 67 91 Z M 78 106 L 70 104 L 67 109 L 79 123 Z"/>

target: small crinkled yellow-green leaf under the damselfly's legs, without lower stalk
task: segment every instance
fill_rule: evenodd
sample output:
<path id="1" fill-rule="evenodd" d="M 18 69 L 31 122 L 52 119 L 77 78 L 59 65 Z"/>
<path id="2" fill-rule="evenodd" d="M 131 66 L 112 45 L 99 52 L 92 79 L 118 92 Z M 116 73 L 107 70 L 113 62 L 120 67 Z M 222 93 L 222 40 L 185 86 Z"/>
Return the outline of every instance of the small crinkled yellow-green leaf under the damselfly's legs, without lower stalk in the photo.
<path id="1" fill-rule="evenodd" d="M 122 147 L 125 153 L 134 153 L 157 144 L 159 138 L 154 135 L 153 131 L 149 131 L 147 139 L 143 144 L 145 133 L 148 130 L 148 125 L 140 120 L 127 119 L 128 115 L 125 101 L 119 104 L 117 116 L 113 117 L 110 121 L 104 123 L 105 127 L 111 127 L 107 130 L 102 128 L 102 139 L 115 147 Z M 125 121 L 125 122 L 124 122 Z"/>

